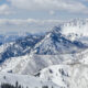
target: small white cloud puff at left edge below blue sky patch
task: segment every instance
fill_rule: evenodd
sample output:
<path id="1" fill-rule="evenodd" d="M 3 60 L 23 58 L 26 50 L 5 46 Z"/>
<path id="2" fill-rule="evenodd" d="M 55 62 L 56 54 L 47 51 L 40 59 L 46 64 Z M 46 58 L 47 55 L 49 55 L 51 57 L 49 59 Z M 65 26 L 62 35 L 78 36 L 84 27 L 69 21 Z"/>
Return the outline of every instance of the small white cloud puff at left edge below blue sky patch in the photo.
<path id="1" fill-rule="evenodd" d="M 0 6 L 0 14 L 9 15 L 12 13 L 14 13 L 14 12 L 10 9 L 10 7 L 8 4 Z"/>

